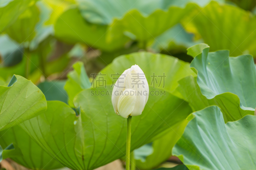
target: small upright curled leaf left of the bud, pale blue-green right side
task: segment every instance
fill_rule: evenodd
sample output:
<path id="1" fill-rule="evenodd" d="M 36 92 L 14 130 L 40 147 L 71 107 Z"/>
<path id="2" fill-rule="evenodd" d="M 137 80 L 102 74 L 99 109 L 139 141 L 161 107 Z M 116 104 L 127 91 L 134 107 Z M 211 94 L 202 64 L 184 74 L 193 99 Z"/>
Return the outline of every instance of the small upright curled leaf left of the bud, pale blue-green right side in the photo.
<path id="1" fill-rule="evenodd" d="M 68 80 L 64 89 L 68 93 L 68 105 L 74 107 L 73 100 L 77 93 L 91 87 L 91 83 L 84 68 L 84 63 L 73 64 L 73 71 L 68 73 Z"/>

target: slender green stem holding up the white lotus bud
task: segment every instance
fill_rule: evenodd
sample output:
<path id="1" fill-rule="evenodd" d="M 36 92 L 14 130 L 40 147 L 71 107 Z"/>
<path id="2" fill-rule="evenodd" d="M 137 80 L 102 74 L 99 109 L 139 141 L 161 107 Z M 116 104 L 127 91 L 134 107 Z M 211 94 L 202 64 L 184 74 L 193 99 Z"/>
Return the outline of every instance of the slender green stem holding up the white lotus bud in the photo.
<path id="1" fill-rule="evenodd" d="M 131 150 L 131 129 L 132 116 L 127 118 L 127 138 L 126 138 L 126 170 L 130 170 L 130 150 Z"/>

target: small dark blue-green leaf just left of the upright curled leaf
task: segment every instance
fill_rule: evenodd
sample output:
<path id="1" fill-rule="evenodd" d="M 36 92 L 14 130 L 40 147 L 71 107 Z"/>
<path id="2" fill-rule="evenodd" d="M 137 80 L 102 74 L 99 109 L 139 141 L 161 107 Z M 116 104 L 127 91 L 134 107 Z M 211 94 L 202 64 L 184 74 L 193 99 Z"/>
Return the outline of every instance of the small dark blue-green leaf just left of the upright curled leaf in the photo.
<path id="1" fill-rule="evenodd" d="M 63 80 L 44 81 L 37 85 L 37 87 L 44 93 L 47 101 L 59 100 L 68 103 L 68 94 L 64 90 L 65 83 L 66 81 Z"/>

